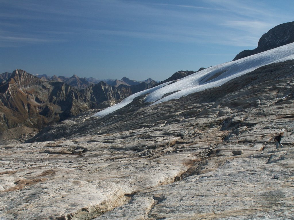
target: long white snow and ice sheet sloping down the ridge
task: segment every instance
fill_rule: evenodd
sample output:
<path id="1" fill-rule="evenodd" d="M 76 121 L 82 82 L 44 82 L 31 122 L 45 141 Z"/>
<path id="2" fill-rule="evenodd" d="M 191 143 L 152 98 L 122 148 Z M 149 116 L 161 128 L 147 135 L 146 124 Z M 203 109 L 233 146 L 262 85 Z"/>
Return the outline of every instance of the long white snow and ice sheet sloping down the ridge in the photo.
<path id="1" fill-rule="evenodd" d="M 114 106 L 97 112 L 93 116 L 103 117 L 131 103 L 134 98 L 147 93 L 149 93 L 149 95 L 145 101 L 151 102 L 152 105 L 169 101 L 171 99 L 179 99 L 195 92 L 200 92 L 205 89 L 210 89 L 212 87 L 219 87 L 225 82 L 230 81 L 231 79 L 244 75 L 248 72 L 252 72 L 253 70 L 264 65 L 283 62 L 286 60 L 294 60 L 294 43 L 274 48 L 272 50 L 267 50 L 265 52 L 251 55 L 249 57 L 244 57 L 240 60 L 226 62 L 220 65 L 209 67 L 207 69 L 179 79 L 177 82 L 174 82 L 170 85 L 168 84 L 171 82 L 167 82 L 158 85 L 157 87 L 138 92 L 127 97 Z M 211 80 L 207 81 L 208 79 Z M 180 91 L 175 92 L 177 90 Z M 164 94 L 167 93 L 171 94 L 163 97 Z"/>

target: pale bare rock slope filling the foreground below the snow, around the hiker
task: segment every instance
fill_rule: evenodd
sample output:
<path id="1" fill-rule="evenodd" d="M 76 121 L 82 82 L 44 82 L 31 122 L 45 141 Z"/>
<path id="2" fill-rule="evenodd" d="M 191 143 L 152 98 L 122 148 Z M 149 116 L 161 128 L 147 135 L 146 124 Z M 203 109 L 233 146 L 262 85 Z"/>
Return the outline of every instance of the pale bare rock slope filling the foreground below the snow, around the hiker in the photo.
<path id="1" fill-rule="evenodd" d="M 267 65 L 153 106 L 145 94 L 2 145 L 1 218 L 292 219 L 293 68 Z"/>

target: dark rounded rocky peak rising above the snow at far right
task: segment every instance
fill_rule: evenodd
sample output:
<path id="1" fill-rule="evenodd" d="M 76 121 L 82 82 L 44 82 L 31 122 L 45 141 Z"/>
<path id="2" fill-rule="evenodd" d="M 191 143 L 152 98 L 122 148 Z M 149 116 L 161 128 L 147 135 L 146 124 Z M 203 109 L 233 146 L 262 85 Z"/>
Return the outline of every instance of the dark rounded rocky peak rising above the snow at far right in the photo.
<path id="1" fill-rule="evenodd" d="M 270 29 L 261 36 L 258 47 L 254 50 L 243 50 L 233 60 L 248 57 L 266 50 L 277 48 L 294 42 L 294 21 L 283 23 Z"/>

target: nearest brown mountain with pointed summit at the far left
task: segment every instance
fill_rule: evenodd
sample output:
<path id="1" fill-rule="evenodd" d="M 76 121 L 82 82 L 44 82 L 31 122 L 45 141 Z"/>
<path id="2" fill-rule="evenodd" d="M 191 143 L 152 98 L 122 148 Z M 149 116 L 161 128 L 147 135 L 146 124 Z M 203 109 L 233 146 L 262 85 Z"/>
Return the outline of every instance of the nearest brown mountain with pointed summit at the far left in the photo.
<path id="1" fill-rule="evenodd" d="M 61 82 L 44 82 L 15 70 L 0 86 L 1 131 L 44 125 L 74 116 L 88 109 L 78 90 Z"/>

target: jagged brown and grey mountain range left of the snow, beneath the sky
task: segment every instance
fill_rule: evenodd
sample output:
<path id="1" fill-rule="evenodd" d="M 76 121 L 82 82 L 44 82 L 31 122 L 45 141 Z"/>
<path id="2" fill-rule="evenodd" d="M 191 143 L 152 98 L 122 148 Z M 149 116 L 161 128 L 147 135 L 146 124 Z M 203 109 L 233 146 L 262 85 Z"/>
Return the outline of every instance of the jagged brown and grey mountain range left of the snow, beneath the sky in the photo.
<path id="1" fill-rule="evenodd" d="M 41 129 L 89 109 L 105 108 L 156 84 L 151 80 L 149 84 L 111 86 L 101 81 L 76 89 L 69 85 L 81 86 L 83 81 L 76 76 L 66 81 L 69 84 L 60 82 L 62 80 L 39 79 L 24 70 L 4 73 L 1 77 L 6 80 L 0 84 L 1 131 L 22 126 Z M 101 104 L 106 101 L 106 105 Z"/>

